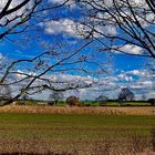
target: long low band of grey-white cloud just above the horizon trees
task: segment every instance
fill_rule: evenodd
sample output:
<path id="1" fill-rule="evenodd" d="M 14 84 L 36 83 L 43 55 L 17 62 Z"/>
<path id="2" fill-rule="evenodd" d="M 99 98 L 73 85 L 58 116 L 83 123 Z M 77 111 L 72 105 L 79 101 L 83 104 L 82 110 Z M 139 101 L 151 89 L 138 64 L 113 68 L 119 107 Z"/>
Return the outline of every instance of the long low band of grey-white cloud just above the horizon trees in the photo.
<path id="1" fill-rule="evenodd" d="M 18 71 L 19 73 L 22 73 L 22 71 Z M 133 74 L 132 74 L 133 73 Z M 30 73 L 33 74 L 33 73 Z M 130 75 L 128 75 L 130 74 Z M 136 74 L 140 76 L 140 79 L 134 79 L 132 75 Z M 18 80 L 24 79 L 24 75 L 22 74 L 18 75 Z M 89 89 L 76 89 L 75 91 L 66 91 L 65 96 L 69 95 L 78 95 L 81 97 L 81 100 L 94 100 L 100 94 L 105 94 L 110 99 L 114 97 L 116 99 L 122 87 L 130 87 L 135 95 L 141 97 L 143 93 L 149 97 L 153 94 L 153 84 L 154 82 L 152 80 L 141 79 L 141 71 L 133 70 L 127 72 L 122 72 L 120 74 L 114 75 L 106 75 L 104 78 L 93 78 L 93 76 L 82 76 L 82 75 L 71 75 L 71 74 L 52 74 L 52 75 L 43 75 L 42 78 L 49 79 L 51 83 L 53 83 L 53 86 L 56 89 L 61 87 L 68 87 L 69 85 L 73 86 L 74 84 L 79 85 L 89 85 L 92 84 Z M 28 81 L 22 82 L 19 87 L 22 87 Z M 38 80 L 33 83 L 33 85 L 40 85 L 43 82 Z M 63 84 L 62 84 L 63 83 Z M 18 87 L 16 87 L 18 90 Z M 44 91 L 42 93 L 42 96 L 49 96 L 50 91 Z M 151 94 L 152 93 L 152 94 Z M 33 95 L 33 97 L 38 99 L 38 94 Z M 46 100 L 46 97 L 44 100 Z M 43 97 L 42 97 L 43 99 Z"/>

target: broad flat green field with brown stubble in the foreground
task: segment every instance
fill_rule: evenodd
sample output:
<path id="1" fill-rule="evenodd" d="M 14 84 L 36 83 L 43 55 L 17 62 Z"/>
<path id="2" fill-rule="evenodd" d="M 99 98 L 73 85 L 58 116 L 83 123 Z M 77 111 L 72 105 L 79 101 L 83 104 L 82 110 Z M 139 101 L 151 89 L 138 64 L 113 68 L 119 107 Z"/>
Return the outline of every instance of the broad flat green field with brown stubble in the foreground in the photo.
<path id="1" fill-rule="evenodd" d="M 60 114 L 61 110 L 58 108 L 50 113 L 41 111 L 46 108 L 42 106 L 40 112 L 38 110 L 34 113 L 28 111 L 27 106 L 27 111 L 23 111 L 23 107 L 0 108 L 0 153 L 115 155 L 134 154 L 154 147 L 155 135 L 152 133 L 155 133 L 155 115 L 143 115 L 143 111 L 141 115 L 78 114 L 75 110 L 74 113 Z"/>

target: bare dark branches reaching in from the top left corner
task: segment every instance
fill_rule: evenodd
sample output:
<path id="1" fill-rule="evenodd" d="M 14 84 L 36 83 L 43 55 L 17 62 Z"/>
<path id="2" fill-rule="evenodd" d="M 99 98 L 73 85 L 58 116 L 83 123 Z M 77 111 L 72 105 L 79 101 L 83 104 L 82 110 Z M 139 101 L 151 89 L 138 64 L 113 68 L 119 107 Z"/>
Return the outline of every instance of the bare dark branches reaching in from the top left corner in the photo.
<path id="1" fill-rule="evenodd" d="M 44 11 L 63 7 L 69 0 L 60 4 L 52 4 L 45 0 L 1 0 L 0 3 L 0 41 L 11 40 L 12 34 L 20 34 L 29 28 L 46 20 Z"/>

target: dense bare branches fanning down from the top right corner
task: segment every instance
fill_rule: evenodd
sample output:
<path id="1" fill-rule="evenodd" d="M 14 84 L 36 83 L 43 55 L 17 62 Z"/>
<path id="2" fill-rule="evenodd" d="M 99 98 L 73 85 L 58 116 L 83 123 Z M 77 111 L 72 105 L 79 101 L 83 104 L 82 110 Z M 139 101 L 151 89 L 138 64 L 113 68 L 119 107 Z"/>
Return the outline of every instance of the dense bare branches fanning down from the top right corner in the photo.
<path id="1" fill-rule="evenodd" d="M 100 52 L 115 51 L 155 59 L 154 0 L 78 0 L 84 38 L 99 41 Z"/>

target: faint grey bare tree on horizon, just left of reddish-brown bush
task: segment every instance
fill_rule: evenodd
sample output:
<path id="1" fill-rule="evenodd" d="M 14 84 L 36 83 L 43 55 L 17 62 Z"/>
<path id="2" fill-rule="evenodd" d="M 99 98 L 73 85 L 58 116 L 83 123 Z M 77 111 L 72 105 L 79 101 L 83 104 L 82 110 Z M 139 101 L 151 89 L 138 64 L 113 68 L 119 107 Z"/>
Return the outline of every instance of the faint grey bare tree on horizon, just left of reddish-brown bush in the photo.
<path id="1" fill-rule="evenodd" d="M 60 100 L 63 100 L 64 99 L 64 95 L 63 95 L 63 92 L 60 92 L 60 91 L 52 91 L 52 93 L 50 94 L 49 96 L 49 104 L 52 105 L 52 104 L 58 104 L 58 102 Z"/>

